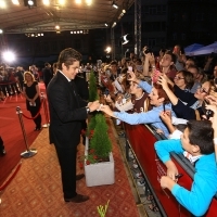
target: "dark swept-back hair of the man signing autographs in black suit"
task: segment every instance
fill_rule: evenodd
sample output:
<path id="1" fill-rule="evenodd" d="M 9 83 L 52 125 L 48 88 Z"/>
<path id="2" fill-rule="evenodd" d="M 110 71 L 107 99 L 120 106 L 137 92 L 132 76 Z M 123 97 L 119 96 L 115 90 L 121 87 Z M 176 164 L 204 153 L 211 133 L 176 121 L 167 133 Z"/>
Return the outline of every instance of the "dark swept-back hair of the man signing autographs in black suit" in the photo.
<path id="1" fill-rule="evenodd" d="M 62 64 L 64 63 L 65 66 L 68 68 L 69 65 L 73 65 L 75 61 L 81 61 L 82 55 L 72 49 L 72 48 L 66 48 L 63 51 L 61 51 L 58 60 L 58 68 L 62 69 Z"/>

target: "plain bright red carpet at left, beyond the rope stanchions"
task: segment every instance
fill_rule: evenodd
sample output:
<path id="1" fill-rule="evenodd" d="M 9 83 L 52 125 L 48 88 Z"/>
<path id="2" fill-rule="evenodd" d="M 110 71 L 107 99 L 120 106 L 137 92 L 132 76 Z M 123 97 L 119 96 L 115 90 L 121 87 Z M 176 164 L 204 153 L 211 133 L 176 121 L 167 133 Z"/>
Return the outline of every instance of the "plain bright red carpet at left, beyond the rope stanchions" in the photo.
<path id="1" fill-rule="evenodd" d="M 39 87 L 40 91 L 44 92 L 44 85 L 40 82 Z M 16 106 L 21 107 L 23 114 L 30 117 L 30 113 L 26 110 L 25 98 L 22 94 L 8 97 L 5 101 L 0 102 L 0 136 L 4 141 L 7 150 L 7 155 L 0 156 L 0 186 L 21 161 L 20 154 L 26 150 L 18 115 L 16 114 Z M 46 124 L 43 107 L 41 107 L 41 115 L 42 124 Z M 33 119 L 23 117 L 23 122 L 27 144 L 30 146 L 39 131 L 34 131 L 35 123 Z"/>

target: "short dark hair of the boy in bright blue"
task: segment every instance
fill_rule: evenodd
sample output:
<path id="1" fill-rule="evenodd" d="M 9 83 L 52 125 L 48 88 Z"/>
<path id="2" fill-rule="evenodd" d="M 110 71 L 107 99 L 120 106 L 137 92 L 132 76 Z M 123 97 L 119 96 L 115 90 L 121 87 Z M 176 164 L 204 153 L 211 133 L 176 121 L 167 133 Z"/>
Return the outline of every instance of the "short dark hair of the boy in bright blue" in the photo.
<path id="1" fill-rule="evenodd" d="M 214 152 L 214 129 L 209 120 L 189 120 L 189 141 L 192 145 L 199 145 L 201 154 Z"/>

